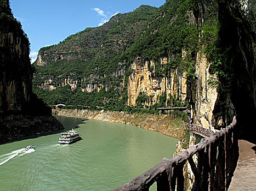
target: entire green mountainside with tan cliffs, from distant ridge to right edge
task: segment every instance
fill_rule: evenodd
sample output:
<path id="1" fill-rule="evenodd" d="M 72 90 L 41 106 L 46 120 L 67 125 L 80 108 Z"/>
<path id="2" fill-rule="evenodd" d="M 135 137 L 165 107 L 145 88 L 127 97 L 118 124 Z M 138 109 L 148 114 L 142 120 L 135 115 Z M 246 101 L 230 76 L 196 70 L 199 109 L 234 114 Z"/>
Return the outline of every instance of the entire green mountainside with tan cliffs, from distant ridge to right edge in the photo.
<path id="1" fill-rule="evenodd" d="M 78 40 L 82 50 L 75 41 L 84 34 L 95 39 Z M 235 114 L 244 121 L 255 114 L 255 50 L 254 2 L 167 0 L 44 47 L 33 86 L 49 105 L 130 111 L 189 104 L 195 123 L 214 129 Z"/>

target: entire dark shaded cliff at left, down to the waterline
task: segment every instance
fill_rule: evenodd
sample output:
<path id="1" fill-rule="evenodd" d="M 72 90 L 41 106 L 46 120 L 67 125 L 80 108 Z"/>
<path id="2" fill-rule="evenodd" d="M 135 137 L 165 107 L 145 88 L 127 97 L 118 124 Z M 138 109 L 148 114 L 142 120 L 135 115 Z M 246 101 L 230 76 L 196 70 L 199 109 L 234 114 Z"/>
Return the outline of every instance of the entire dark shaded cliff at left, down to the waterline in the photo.
<path id="1" fill-rule="evenodd" d="M 0 23 L 0 142 L 63 128 L 32 93 L 29 40 L 8 0 L 0 1 Z"/>

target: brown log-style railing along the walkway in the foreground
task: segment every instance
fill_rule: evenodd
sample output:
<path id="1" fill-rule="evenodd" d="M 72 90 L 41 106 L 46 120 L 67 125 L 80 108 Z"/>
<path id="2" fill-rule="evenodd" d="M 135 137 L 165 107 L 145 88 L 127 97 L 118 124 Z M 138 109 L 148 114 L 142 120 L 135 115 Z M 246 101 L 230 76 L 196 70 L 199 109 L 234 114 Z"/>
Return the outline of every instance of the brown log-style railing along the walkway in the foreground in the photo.
<path id="1" fill-rule="evenodd" d="M 149 190 L 154 182 L 157 190 L 184 190 L 183 168 L 186 161 L 195 176 L 192 190 L 227 190 L 238 160 L 235 125 L 236 117 L 225 129 L 202 139 L 177 156 L 164 158 L 152 169 L 113 190 Z M 196 153 L 197 165 L 192 158 Z"/>

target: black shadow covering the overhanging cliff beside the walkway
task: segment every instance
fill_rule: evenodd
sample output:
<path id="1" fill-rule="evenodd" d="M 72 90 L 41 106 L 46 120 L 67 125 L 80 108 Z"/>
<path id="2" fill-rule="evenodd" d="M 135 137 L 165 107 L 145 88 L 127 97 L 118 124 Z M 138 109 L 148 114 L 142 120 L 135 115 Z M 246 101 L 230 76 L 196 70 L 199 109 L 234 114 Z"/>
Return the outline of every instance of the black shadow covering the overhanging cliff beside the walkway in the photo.
<path id="1" fill-rule="evenodd" d="M 220 89 L 213 113 L 216 122 L 224 116 L 225 125 L 230 123 L 233 115 L 237 115 L 238 138 L 255 144 L 255 32 L 253 23 L 244 19 L 236 7 L 229 6 L 219 3 L 219 45 L 225 55 L 223 71 L 230 78 L 219 79 L 226 88 Z"/>

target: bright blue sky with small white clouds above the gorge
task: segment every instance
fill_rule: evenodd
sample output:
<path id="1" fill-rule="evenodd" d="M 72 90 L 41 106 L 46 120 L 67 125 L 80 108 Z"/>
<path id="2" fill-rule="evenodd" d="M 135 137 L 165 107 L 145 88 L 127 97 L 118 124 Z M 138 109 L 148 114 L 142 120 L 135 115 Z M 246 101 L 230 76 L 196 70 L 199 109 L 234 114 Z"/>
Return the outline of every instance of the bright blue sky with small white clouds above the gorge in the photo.
<path id="1" fill-rule="evenodd" d="M 97 27 L 117 13 L 128 13 L 142 4 L 160 7 L 165 0 L 10 0 L 14 17 L 30 39 L 32 62 L 43 46 L 58 44 L 87 27 Z"/>

